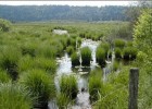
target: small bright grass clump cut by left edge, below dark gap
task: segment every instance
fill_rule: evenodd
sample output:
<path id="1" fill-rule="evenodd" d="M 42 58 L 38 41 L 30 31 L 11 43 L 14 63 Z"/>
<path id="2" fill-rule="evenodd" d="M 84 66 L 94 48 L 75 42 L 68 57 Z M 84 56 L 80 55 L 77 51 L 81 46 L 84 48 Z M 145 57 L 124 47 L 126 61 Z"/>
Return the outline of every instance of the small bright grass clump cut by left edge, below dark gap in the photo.
<path id="1" fill-rule="evenodd" d="M 8 83 L 11 77 L 8 75 L 7 71 L 0 70 L 0 83 Z"/>

